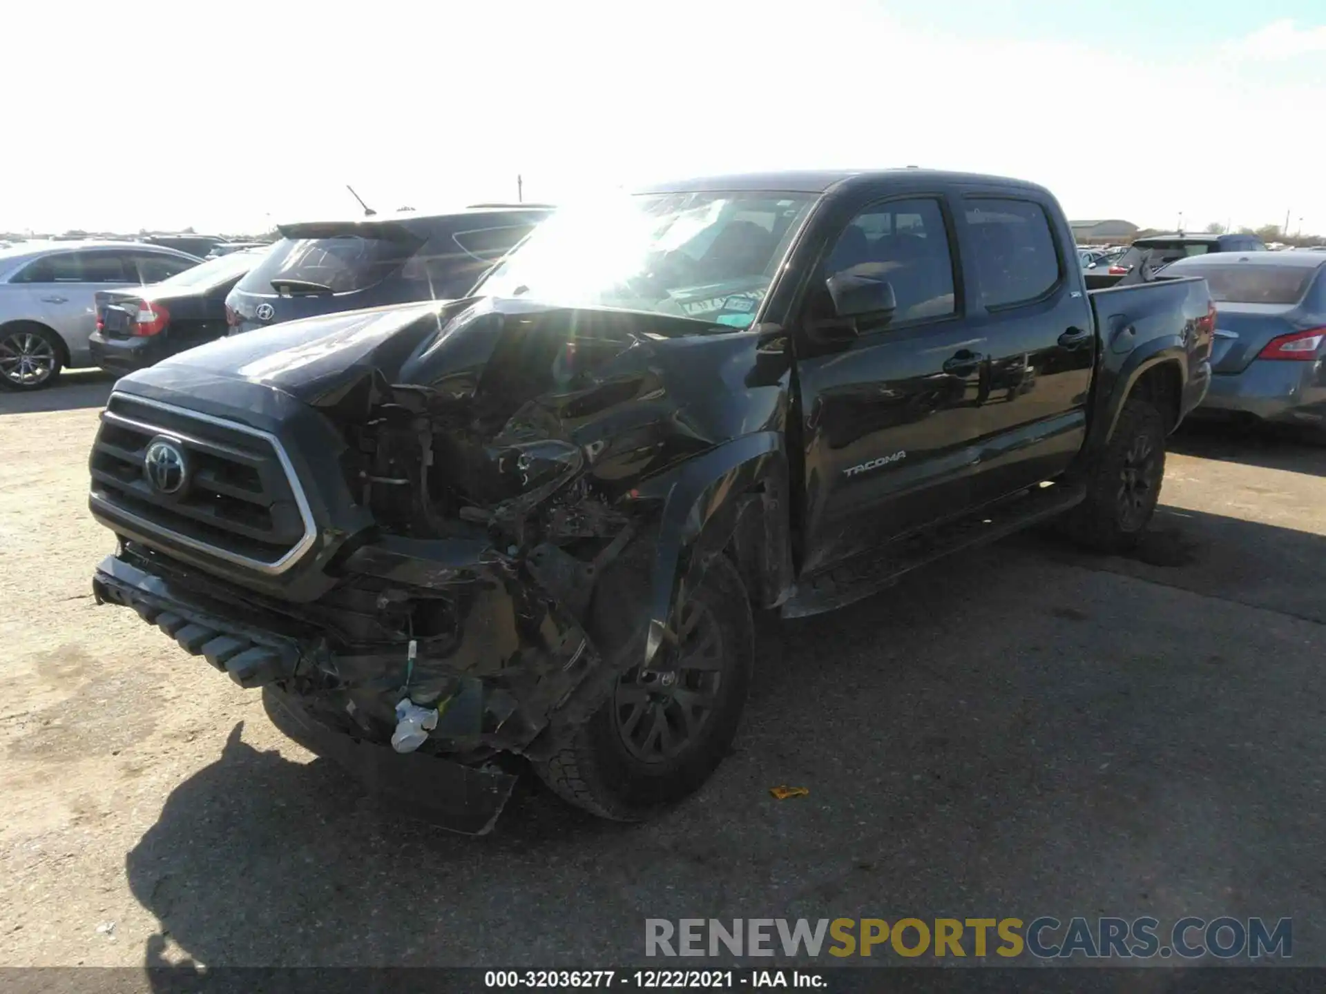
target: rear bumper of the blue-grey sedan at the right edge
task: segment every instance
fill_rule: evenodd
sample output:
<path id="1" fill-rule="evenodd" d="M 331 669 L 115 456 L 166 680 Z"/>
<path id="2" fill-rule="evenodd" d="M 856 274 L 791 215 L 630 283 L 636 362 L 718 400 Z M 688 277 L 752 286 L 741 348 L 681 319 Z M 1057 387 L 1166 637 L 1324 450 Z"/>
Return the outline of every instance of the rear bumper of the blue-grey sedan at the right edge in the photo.
<path id="1" fill-rule="evenodd" d="M 1284 424 L 1326 424 L 1326 359 L 1253 359 L 1241 372 L 1219 372 L 1196 411 L 1201 417 L 1252 416 Z"/>

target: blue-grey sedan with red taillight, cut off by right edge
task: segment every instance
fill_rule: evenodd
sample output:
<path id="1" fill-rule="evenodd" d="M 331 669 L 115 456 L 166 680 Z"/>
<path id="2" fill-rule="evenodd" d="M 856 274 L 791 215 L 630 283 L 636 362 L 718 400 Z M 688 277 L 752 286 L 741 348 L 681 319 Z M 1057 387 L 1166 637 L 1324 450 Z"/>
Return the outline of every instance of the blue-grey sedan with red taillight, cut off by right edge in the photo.
<path id="1" fill-rule="evenodd" d="M 1326 441 L 1326 257 L 1317 252 L 1180 258 L 1216 301 L 1215 374 L 1199 416 L 1306 425 Z"/>

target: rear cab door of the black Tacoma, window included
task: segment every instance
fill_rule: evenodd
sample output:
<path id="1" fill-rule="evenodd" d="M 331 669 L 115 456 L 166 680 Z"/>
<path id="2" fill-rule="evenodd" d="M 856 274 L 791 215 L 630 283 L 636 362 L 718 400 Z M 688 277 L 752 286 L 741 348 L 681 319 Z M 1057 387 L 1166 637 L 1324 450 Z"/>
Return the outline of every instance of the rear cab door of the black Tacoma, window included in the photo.
<path id="1" fill-rule="evenodd" d="M 987 343 L 979 504 L 1058 476 L 1086 440 L 1095 323 L 1059 212 L 1033 192 L 969 192 L 959 239 Z"/>

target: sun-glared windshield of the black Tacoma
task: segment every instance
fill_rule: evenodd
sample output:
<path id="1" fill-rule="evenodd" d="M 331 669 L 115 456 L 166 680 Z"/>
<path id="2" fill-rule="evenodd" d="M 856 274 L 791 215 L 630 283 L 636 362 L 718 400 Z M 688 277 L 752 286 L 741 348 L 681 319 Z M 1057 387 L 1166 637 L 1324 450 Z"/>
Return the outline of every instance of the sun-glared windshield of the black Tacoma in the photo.
<path id="1" fill-rule="evenodd" d="M 569 207 L 475 290 L 748 327 L 814 195 L 650 193 Z"/>

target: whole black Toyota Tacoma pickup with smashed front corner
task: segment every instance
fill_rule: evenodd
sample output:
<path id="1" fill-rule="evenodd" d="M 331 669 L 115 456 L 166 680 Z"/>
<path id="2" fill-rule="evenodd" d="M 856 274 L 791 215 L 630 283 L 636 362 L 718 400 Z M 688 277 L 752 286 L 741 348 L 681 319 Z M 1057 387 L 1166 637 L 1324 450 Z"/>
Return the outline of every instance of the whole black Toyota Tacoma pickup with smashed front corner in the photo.
<path id="1" fill-rule="evenodd" d="M 826 611 L 1052 517 L 1135 541 L 1213 322 L 1200 278 L 1087 292 L 1028 183 L 614 196 L 464 300 L 121 379 L 93 586 L 451 828 L 491 828 L 518 757 L 639 819 L 728 750 L 753 611 Z"/>

